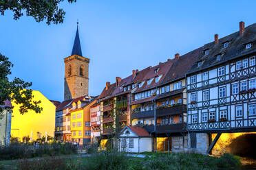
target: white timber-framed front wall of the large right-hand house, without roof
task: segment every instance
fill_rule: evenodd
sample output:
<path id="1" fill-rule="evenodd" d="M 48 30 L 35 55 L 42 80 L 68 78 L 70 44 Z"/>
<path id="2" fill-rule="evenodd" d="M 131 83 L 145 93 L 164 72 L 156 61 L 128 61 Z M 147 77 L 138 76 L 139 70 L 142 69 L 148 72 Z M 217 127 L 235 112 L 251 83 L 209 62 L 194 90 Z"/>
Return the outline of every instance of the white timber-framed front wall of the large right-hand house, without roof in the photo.
<path id="1" fill-rule="evenodd" d="M 255 56 L 186 77 L 188 130 L 256 127 Z"/>

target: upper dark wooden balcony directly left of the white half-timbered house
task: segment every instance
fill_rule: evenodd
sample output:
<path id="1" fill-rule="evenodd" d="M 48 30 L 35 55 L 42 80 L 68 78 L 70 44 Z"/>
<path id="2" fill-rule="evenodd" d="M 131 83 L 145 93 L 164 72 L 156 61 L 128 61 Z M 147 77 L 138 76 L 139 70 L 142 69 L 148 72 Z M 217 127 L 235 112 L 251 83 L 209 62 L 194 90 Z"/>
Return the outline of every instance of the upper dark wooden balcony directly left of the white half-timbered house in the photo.
<path id="1" fill-rule="evenodd" d="M 186 112 L 186 105 L 179 104 L 171 107 L 157 108 L 156 117 L 165 117 L 168 115 L 180 114 Z"/>

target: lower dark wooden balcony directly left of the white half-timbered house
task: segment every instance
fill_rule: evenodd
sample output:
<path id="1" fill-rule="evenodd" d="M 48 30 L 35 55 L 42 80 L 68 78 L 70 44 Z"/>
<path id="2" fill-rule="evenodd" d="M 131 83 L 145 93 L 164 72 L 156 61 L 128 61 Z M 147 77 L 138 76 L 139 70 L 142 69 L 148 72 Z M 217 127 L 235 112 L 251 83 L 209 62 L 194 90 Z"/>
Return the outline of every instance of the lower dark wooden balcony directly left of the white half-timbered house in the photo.
<path id="1" fill-rule="evenodd" d="M 157 125 L 157 133 L 178 133 L 186 131 L 186 123 L 177 123 L 169 125 Z"/>

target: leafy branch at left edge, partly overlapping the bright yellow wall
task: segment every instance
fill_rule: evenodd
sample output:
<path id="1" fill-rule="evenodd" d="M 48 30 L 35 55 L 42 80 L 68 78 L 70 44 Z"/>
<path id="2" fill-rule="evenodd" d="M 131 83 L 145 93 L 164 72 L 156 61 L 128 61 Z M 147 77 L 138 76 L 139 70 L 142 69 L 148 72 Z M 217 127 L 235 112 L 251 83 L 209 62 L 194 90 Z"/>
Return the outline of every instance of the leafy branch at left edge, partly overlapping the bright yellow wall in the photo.
<path id="1" fill-rule="evenodd" d="M 0 53 L 0 105 L 3 106 L 4 101 L 9 100 L 21 105 L 19 108 L 21 114 L 28 112 L 28 110 L 34 110 L 36 113 L 40 113 L 43 110 L 39 106 L 41 101 L 33 100 L 32 90 L 23 90 L 30 87 L 32 83 L 24 82 L 17 77 L 14 77 L 12 81 L 8 79 L 12 66 L 13 64 L 8 58 Z M 6 109 L 11 110 L 12 108 Z M 3 112 L 3 108 L 1 107 L 0 112 Z"/>

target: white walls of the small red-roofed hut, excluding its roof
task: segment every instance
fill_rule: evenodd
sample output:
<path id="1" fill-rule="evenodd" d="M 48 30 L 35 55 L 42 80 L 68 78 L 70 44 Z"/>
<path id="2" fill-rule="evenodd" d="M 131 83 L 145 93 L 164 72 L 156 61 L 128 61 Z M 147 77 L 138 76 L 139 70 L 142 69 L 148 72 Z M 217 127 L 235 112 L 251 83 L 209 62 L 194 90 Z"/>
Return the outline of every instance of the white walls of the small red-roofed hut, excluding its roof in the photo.
<path id="1" fill-rule="evenodd" d="M 124 127 L 120 134 L 120 151 L 140 153 L 144 151 L 153 151 L 152 147 L 153 138 L 151 136 L 138 136 L 128 127 Z"/>

